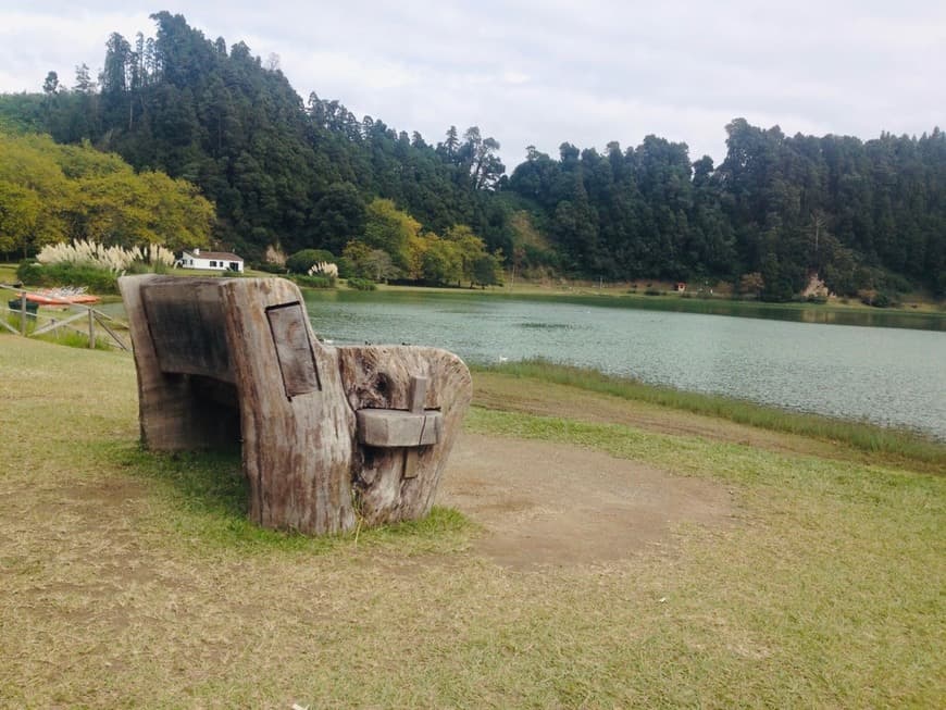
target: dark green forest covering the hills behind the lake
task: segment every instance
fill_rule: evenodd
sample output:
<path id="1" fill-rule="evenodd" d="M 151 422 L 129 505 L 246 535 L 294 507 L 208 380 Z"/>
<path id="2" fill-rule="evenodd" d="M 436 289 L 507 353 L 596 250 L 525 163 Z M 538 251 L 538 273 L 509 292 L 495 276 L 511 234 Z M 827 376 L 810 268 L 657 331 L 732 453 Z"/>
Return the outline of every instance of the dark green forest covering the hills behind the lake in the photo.
<path id="1" fill-rule="evenodd" d="M 387 277 L 438 283 L 494 283 L 501 264 L 532 276 L 726 281 L 776 301 L 812 274 L 838 295 L 946 295 L 937 127 L 862 140 L 786 136 L 737 117 L 719 165 L 648 135 L 602 152 L 528 147 L 507 172 L 499 144 L 477 126 L 427 142 L 337 100 L 303 100 L 244 42 L 211 40 L 182 15 L 152 20 L 154 37 L 110 36 L 97 76 L 83 64 L 71 86 L 50 72 L 40 91 L 0 96 L 0 128 L 116 153 L 136 175 L 196 186 L 215 208 L 209 242 L 250 260 L 315 249 L 373 252 L 377 264 L 381 251 Z M 0 173 L 0 251 L 73 238 L 74 220 L 13 231 L 11 196 L 26 188 L 12 173 Z M 399 241 L 378 224 L 398 225 Z M 90 232 L 82 237 L 117 238 Z"/>

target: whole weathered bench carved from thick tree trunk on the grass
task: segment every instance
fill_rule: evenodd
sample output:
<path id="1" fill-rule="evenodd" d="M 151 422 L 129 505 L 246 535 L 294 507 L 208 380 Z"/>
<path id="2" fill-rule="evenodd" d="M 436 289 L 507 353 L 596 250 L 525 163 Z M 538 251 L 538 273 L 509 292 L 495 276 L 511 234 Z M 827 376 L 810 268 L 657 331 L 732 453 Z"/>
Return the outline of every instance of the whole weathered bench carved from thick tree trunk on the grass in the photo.
<path id="1" fill-rule="evenodd" d="M 265 527 L 334 533 L 430 512 L 472 397 L 457 356 L 326 346 L 282 278 L 119 286 L 148 448 L 240 441 L 249 515 Z"/>

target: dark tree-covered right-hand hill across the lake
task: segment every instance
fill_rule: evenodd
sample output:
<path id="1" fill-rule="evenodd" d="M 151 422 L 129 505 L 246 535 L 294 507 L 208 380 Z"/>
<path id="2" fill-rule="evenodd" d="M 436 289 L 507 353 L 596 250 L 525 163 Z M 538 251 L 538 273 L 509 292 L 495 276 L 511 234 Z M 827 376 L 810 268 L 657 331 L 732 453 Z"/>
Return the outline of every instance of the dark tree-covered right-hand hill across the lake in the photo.
<path id="1" fill-rule="evenodd" d="M 946 290 L 946 135 L 857 138 L 726 126 L 719 167 L 648 136 L 602 155 L 530 148 L 509 188 L 539 208 L 572 269 L 608 278 L 761 277 L 773 300 L 811 273 L 832 290 Z"/>

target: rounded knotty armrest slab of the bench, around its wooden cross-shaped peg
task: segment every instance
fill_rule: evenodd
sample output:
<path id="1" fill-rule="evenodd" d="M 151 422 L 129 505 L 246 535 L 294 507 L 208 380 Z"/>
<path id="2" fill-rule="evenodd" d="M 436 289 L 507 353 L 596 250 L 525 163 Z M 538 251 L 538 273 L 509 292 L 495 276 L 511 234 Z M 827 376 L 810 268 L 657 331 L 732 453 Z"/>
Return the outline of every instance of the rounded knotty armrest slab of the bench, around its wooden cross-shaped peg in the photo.
<path id="1" fill-rule="evenodd" d="M 358 445 L 352 486 L 369 525 L 415 520 L 434 505 L 437 485 L 473 396 L 470 371 L 460 358 L 436 348 L 353 346 L 337 348 L 352 409 L 411 408 L 412 377 L 426 377 L 424 410 L 439 410 L 440 440 L 416 450 L 415 476 L 404 477 L 403 449 Z"/>

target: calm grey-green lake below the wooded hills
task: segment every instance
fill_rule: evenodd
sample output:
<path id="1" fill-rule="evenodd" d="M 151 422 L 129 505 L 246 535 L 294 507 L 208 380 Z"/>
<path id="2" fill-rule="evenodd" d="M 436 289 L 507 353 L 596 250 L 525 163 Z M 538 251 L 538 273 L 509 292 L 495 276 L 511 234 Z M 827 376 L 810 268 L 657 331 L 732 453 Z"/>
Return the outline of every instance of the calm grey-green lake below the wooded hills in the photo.
<path id="1" fill-rule="evenodd" d="M 564 302 L 473 292 L 306 291 L 306 301 L 315 333 L 337 345 L 428 345 L 483 364 L 545 358 L 946 440 L 941 329 L 838 325 L 838 316 L 854 323 L 858 313 L 817 309 L 768 311 L 770 317 L 795 319 L 787 321 L 645 310 L 614 299 Z M 869 312 L 860 322 L 877 317 Z M 906 319 L 932 328 L 944 323 Z"/>

